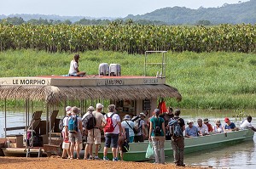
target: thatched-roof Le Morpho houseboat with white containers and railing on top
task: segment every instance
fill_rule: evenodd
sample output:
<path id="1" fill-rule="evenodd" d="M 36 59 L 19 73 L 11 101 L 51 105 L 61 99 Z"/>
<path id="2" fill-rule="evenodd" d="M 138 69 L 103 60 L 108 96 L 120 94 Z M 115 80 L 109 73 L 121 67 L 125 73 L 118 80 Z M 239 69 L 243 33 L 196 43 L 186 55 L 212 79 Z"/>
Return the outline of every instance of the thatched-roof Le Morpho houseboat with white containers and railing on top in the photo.
<path id="1" fill-rule="evenodd" d="M 166 84 L 166 51 L 161 51 L 161 63 L 147 63 L 145 54 L 144 76 L 120 76 L 120 65 L 101 64 L 99 75 L 96 76 L 33 76 L 33 77 L 3 77 L 0 78 L 0 99 L 4 100 L 25 100 L 26 101 L 26 125 L 25 127 L 9 127 L 7 124 L 6 104 L 4 107 L 5 122 L 4 132 L 5 142 L 9 140 L 13 144 L 9 148 L 3 148 L 3 152 L 21 151 L 27 155 L 28 149 L 32 154 L 33 145 L 20 143 L 23 140 L 20 135 L 8 135 L 11 130 L 25 129 L 32 131 L 32 134 L 39 134 L 44 145 L 58 144 L 53 139 L 58 126 L 56 116 L 59 110 L 55 110 L 60 104 L 64 105 L 61 115 L 65 114 L 67 102 L 79 103 L 82 113 L 87 107 L 84 100 L 109 100 L 109 103 L 116 104 L 118 111 L 123 114 L 137 115 L 140 112 L 152 112 L 157 107 L 157 99 L 175 98 L 181 100 L 182 96 L 177 88 Z M 160 65 L 160 76 L 147 76 L 147 65 Z M 107 65 L 107 66 L 106 66 Z M 41 121 L 42 111 L 32 111 L 32 103 L 42 101 L 45 104 L 46 121 Z M 76 104 L 74 104 L 76 105 Z M 106 106 L 106 105 L 105 105 Z M 63 112 L 63 113 L 62 113 Z M 33 113 L 33 114 L 32 114 Z M 34 133 L 34 131 L 36 133 Z M 57 131 L 60 132 L 60 131 Z M 31 133 L 30 133 L 31 134 Z M 28 133 L 24 138 L 28 138 Z M 32 137 L 33 138 L 33 137 Z M 19 143 L 17 143 L 19 142 Z M 15 143 L 15 144 L 14 144 Z M 40 149 L 44 152 L 49 147 Z M 24 151 L 24 148 L 26 149 Z M 16 150 L 15 150 L 16 149 Z M 17 150 L 18 149 L 18 150 Z M 19 150 L 21 149 L 21 150 Z M 49 148 L 50 150 L 50 148 Z M 56 153 L 56 152 L 55 152 Z M 59 152 L 57 152 L 58 154 Z M 18 155 L 18 153 L 17 153 Z"/>

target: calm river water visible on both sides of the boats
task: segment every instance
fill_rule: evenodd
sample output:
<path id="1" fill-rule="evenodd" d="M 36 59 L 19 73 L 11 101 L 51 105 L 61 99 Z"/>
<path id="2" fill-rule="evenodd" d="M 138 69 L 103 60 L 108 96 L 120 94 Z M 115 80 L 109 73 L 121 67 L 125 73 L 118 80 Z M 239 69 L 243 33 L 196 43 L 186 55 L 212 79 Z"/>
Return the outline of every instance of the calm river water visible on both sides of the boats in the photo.
<path id="1" fill-rule="evenodd" d="M 245 115 L 252 115 L 252 124 L 256 127 L 256 110 L 245 110 Z M 220 119 L 224 123 L 224 117 L 228 116 L 230 121 L 234 121 L 236 126 L 245 119 L 235 119 L 234 110 L 182 110 L 181 117 L 185 121 L 197 121 L 198 118 L 208 118 L 213 125 L 216 119 Z M 62 116 L 59 115 L 60 117 Z M 30 117 L 31 118 L 31 117 Z M 45 113 L 42 115 L 42 120 L 45 120 Z M 8 111 L 7 112 L 7 127 L 20 127 L 26 123 L 25 112 Z M 0 137 L 4 137 L 4 113 L 0 111 Z M 12 131 L 7 134 L 23 134 L 24 131 Z M 172 157 L 166 159 L 167 162 L 172 162 Z M 189 166 L 213 166 L 215 168 L 256 168 L 256 138 L 243 142 L 237 145 L 219 147 L 215 149 L 207 149 L 184 156 L 184 162 Z"/>

